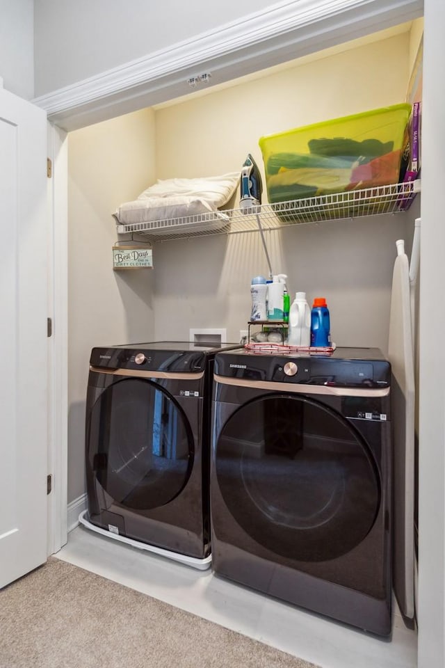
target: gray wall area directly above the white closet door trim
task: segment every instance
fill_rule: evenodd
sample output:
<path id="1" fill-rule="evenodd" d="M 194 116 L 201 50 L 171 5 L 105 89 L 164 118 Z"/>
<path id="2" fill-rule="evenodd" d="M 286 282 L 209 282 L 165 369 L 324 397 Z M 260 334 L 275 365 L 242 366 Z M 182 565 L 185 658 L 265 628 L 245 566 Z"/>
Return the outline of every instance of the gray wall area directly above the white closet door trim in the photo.
<path id="1" fill-rule="evenodd" d="M 6 4 L 6 0 L 4 1 Z M 270 6 L 238 0 L 35 0 L 35 97 Z"/>

